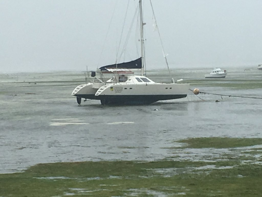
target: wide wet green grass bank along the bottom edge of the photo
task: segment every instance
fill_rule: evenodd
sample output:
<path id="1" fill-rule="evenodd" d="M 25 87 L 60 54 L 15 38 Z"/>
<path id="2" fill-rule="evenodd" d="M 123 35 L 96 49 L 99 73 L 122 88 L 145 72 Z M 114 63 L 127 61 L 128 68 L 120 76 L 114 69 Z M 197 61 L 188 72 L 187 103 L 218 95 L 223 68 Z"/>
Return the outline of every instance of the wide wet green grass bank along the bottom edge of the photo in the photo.
<path id="1" fill-rule="evenodd" d="M 77 162 L 35 165 L 23 173 L 1 174 L 1 196 L 259 196 L 262 166 L 239 165 L 187 173 L 187 167 L 207 163 Z M 180 169 L 170 176 L 156 169 Z M 181 169 L 182 168 L 182 169 Z M 49 177 L 49 178 L 48 178 Z M 57 177 L 57 178 L 54 178 Z"/>

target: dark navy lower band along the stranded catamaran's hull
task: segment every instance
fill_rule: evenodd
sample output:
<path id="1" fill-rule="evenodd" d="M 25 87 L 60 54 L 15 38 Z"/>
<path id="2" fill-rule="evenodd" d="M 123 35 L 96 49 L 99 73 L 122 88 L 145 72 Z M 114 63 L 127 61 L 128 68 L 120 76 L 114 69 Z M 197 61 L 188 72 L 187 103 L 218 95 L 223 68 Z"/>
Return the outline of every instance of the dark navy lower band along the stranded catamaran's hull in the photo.
<path id="1" fill-rule="evenodd" d="M 179 95 L 74 95 L 77 97 L 101 100 L 102 105 L 143 105 L 161 100 L 171 100 L 187 97 L 186 94 Z"/>

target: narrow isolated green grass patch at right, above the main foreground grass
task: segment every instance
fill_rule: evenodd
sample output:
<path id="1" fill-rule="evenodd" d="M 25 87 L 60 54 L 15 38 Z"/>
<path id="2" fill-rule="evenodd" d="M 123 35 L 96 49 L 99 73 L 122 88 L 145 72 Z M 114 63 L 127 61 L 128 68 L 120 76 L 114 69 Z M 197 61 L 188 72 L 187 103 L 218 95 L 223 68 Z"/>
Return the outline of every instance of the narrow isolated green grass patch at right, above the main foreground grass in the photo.
<path id="1" fill-rule="evenodd" d="M 177 142 L 186 143 L 184 148 L 231 148 L 262 144 L 262 138 L 204 137 L 181 139 Z"/>

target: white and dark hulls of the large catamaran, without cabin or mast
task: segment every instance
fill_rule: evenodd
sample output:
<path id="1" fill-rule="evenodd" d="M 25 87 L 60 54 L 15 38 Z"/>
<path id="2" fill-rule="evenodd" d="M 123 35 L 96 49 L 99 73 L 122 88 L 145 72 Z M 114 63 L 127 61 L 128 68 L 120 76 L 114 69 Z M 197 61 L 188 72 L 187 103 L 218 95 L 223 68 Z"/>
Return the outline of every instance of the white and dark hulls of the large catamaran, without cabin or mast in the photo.
<path id="1" fill-rule="evenodd" d="M 82 84 L 73 96 L 100 100 L 102 105 L 143 105 L 187 97 L 189 84 Z"/>

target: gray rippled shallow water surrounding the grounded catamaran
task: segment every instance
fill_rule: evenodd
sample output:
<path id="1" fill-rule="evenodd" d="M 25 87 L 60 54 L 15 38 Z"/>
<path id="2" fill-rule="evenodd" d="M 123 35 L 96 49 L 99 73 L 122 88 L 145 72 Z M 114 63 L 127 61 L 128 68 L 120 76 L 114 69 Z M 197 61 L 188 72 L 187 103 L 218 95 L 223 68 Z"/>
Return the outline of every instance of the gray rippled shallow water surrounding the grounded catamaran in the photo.
<path id="1" fill-rule="evenodd" d="M 234 80 L 262 79 L 262 72 L 249 69 L 227 69 L 225 79 L 212 81 L 215 87 L 203 78 L 212 69 L 179 69 L 174 78 L 200 80 L 203 92 L 262 97 L 262 84 L 230 87 Z M 162 70 L 148 76 L 170 80 Z M 228 87 L 220 87 L 225 81 Z M 101 106 L 94 100 L 78 106 L 70 94 L 84 83 L 83 72 L 1 74 L 0 82 L 0 173 L 37 163 L 162 159 L 172 155 L 174 141 L 189 137 L 262 137 L 262 99 L 200 94 L 203 101 L 189 91 L 187 98 L 144 106 Z"/>

